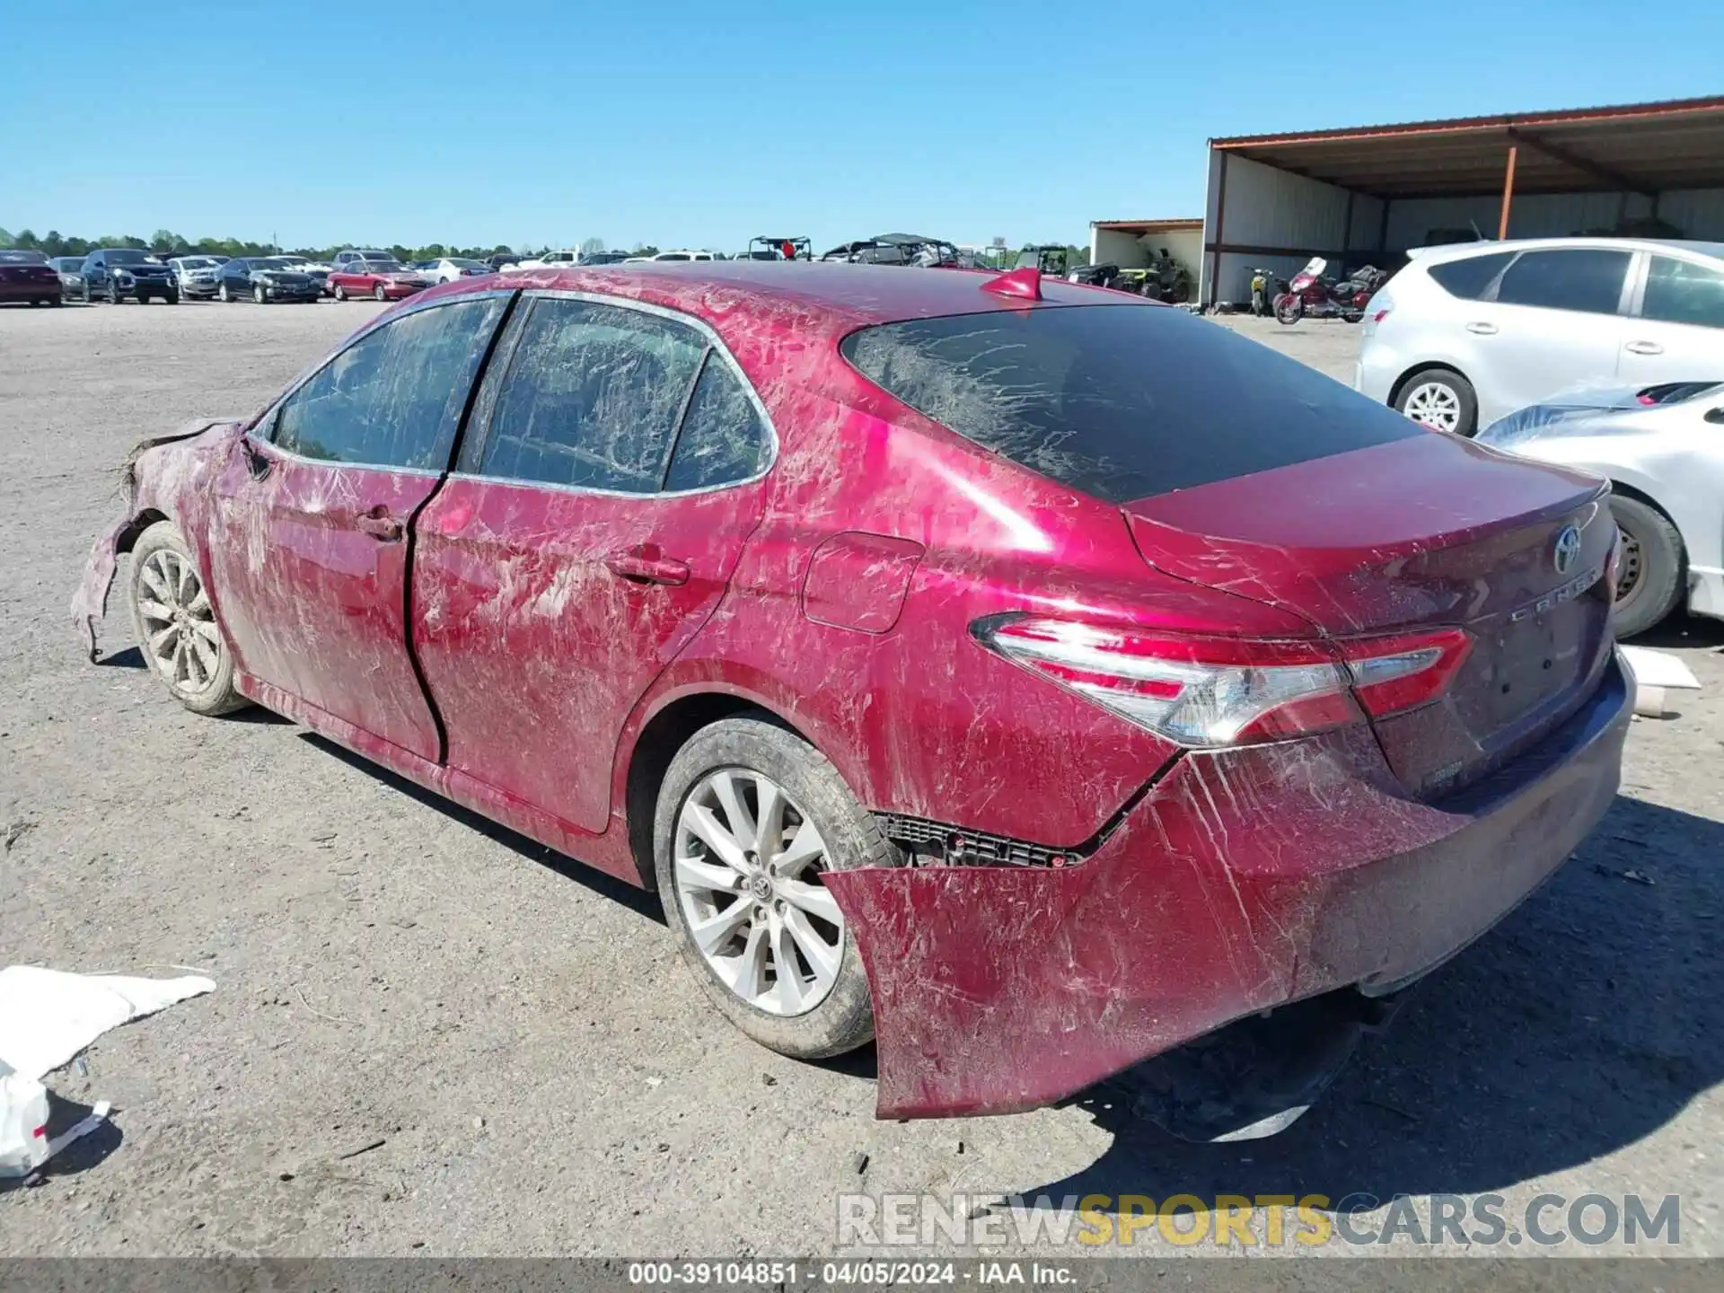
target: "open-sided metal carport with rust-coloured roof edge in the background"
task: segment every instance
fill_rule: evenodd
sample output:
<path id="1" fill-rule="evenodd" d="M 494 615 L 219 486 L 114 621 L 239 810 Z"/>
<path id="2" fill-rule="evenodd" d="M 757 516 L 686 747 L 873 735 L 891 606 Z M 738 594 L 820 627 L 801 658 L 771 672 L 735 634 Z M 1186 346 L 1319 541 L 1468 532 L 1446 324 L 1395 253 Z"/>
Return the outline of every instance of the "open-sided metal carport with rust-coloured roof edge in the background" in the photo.
<path id="1" fill-rule="evenodd" d="M 1200 298 L 1474 229 L 1724 240 L 1724 97 L 1210 140 Z"/>

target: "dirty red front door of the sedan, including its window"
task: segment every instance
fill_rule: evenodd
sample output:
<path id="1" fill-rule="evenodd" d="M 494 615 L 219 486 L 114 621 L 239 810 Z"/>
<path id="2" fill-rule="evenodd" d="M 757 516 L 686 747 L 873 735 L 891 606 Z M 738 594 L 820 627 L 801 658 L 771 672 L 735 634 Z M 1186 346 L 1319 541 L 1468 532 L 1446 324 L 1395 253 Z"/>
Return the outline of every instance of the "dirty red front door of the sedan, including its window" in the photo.
<path id="1" fill-rule="evenodd" d="M 407 534 L 507 302 L 365 331 L 236 438 L 216 479 L 210 567 L 240 669 L 428 760 L 441 741 L 407 646 Z"/>

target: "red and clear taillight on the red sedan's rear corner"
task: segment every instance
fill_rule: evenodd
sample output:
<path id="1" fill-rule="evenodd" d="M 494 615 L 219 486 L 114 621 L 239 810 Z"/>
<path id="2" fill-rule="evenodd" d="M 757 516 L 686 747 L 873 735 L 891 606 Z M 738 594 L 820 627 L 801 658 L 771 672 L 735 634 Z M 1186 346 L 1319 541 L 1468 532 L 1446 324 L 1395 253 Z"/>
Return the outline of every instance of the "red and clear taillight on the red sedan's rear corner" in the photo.
<path id="1" fill-rule="evenodd" d="M 1264 641 L 995 615 L 971 631 L 1014 664 L 1198 750 L 1307 736 L 1424 705 L 1471 650 L 1462 629 Z"/>

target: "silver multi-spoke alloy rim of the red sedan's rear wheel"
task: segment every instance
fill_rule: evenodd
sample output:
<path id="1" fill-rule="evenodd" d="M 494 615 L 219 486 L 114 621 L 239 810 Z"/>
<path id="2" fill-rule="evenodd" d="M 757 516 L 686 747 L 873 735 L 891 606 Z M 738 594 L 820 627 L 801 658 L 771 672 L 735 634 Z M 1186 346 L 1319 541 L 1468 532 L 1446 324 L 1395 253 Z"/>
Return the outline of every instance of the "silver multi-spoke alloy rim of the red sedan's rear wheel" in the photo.
<path id="1" fill-rule="evenodd" d="M 845 917 L 828 893 L 819 828 L 784 788 L 721 767 L 683 800 L 676 900 L 712 974 L 757 1010 L 803 1015 L 833 990 Z"/>

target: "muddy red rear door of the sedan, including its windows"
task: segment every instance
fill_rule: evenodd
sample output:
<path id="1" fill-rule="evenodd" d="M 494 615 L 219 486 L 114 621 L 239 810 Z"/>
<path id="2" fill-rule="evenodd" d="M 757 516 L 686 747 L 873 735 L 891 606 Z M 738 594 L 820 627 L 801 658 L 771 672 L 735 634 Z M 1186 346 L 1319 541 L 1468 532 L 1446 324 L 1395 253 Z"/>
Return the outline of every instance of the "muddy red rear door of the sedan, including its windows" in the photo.
<path id="1" fill-rule="evenodd" d="M 760 519 L 771 424 L 703 324 L 529 300 L 417 528 L 414 645 L 450 769 L 597 834 L 628 714 Z"/>

